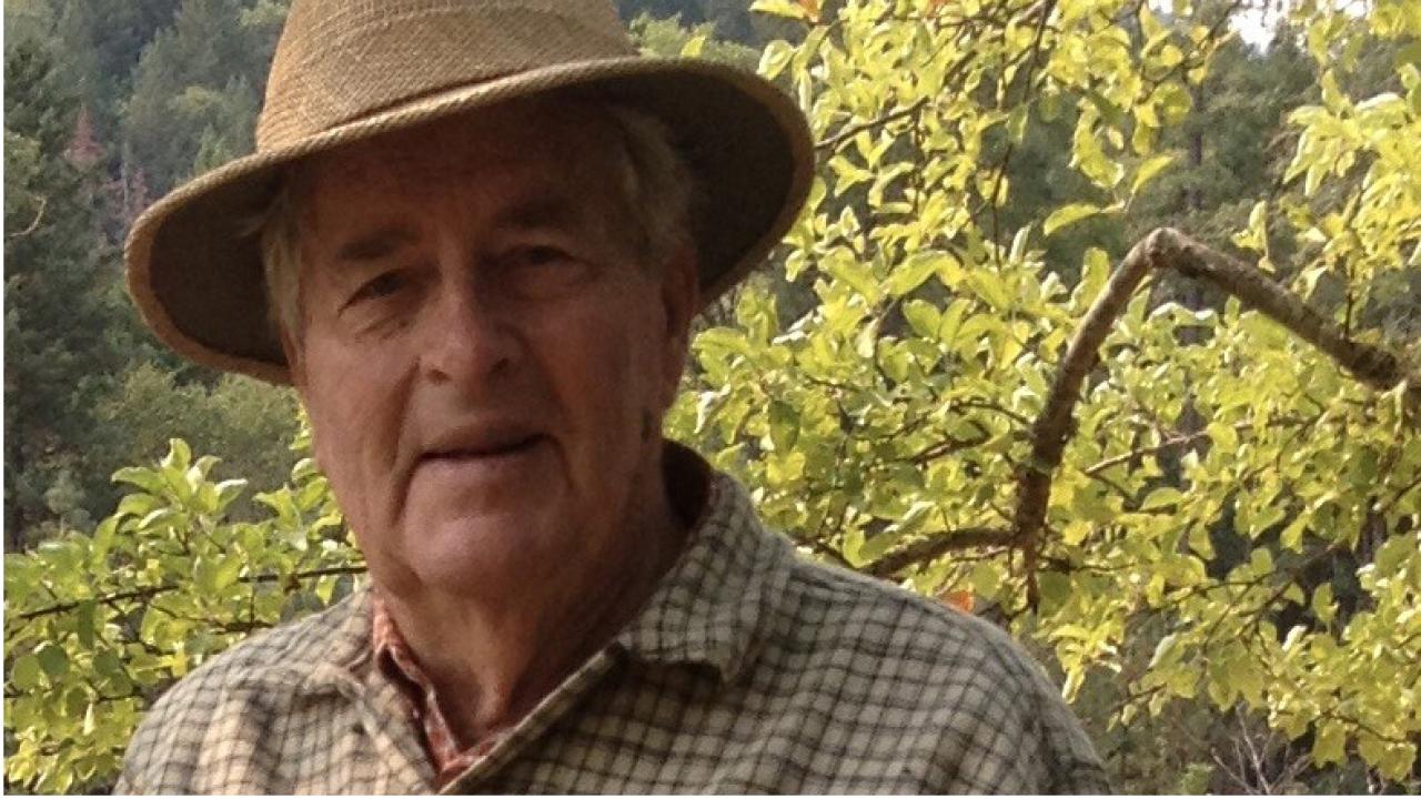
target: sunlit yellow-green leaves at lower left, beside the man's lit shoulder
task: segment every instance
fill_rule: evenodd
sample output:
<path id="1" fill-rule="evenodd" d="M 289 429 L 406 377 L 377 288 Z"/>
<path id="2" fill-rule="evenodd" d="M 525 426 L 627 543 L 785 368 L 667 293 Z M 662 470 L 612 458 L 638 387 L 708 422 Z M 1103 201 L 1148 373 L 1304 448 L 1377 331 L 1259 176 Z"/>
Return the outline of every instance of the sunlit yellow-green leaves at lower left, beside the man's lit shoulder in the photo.
<path id="1" fill-rule="evenodd" d="M 240 640 L 338 599 L 360 572 L 324 478 L 303 462 L 266 495 L 280 519 L 239 522 L 240 479 L 173 441 L 122 469 L 118 510 L 6 556 L 6 778 L 37 792 L 111 785 L 144 708 Z M 300 543 L 301 546 L 293 546 Z"/>

